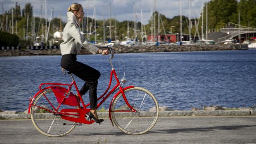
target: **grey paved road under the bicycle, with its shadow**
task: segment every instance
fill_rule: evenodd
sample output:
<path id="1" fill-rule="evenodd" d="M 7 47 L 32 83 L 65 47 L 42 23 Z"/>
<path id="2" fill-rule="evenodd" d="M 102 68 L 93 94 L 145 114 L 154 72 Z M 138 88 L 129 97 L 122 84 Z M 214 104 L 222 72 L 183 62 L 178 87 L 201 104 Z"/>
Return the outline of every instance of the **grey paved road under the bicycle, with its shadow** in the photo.
<path id="1" fill-rule="evenodd" d="M 105 118 L 102 125 L 77 126 L 47 137 L 31 120 L 0 120 L 1 144 L 256 144 L 256 116 L 160 117 L 146 134 L 128 135 Z"/>

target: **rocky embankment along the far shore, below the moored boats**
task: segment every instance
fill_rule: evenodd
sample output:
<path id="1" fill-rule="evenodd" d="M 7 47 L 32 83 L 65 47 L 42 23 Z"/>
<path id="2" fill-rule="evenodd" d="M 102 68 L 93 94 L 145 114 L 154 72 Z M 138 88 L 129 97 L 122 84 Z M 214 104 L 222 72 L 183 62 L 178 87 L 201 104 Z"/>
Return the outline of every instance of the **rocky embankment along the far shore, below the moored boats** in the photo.
<path id="1" fill-rule="evenodd" d="M 168 46 L 113 46 L 119 53 L 137 53 L 137 52 L 190 52 L 190 51 L 215 51 L 215 50 L 241 50 L 237 44 L 216 44 L 216 45 L 168 45 Z M 60 49 L 36 50 L 39 55 L 60 55 Z M 79 54 L 91 54 L 85 48 L 82 48 Z M 0 56 L 29 56 L 34 55 L 24 50 L 0 50 Z"/>

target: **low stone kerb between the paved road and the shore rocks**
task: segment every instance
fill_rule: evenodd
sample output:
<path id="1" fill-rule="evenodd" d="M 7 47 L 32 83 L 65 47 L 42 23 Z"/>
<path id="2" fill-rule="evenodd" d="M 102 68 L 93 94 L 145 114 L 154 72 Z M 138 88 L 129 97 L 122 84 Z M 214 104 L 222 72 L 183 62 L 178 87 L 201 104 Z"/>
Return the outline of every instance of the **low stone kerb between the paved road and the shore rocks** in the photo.
<path id="1" fill-rule="evenodd" d="M 151 116 L 152 112 L 142 113 L 144 117 Z M 52 114 L 38 113 L 38 118 L 50 118 Z M 100 118 L 108 118 L 108 112 L 98 112 Z M 256 116 L 256 110 L 196 110 L 196 111 L 160 111 L 160 117 L 171 116 Z M 0 114 L 0 120 L 30 119 L 30 114 Z"/>

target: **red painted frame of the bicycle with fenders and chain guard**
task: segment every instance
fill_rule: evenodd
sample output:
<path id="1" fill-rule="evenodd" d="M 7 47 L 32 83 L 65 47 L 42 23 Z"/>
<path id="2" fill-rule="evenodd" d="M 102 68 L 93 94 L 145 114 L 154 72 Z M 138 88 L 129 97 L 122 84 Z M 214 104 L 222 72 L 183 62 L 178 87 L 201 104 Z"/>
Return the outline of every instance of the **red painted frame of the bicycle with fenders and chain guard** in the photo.
<path id="1" fill-rule="evenodd" d="M 112 56 L 113 56 L 113 53 L 112 53 Z M 111 59 L 112 59 L 112 57 L 110 58 L 110 60 L 111 60 Z M 110 61 L 110 64 L 111 64 L 111 66 L 112 66 L 111 61 Z M 112 90 L 110 90 L 110 92 L 108 92 L 108 90 L 110 89 L 110 86 L 111 86 L 111 84 L 112 84 L 112 77 L 113 77 L 113 74 L 114 74 L 114 77 L 115 77 L 115 79 L 116 79 L 117 84 L 112 88 Z M 42 94 L 44 95 L 44 97 L 46 98 L 46 100 L 50 103 L 50 105 L 52 106 L 52 108 L 53 108 L 54 110 L 53 110 L 53 111 L 50 111 L 50 110 L 47 110 L 46 108 L 42 108 L 42 107 L 40 107 L 40 106 L 37 106 L 37 107 L 42 108 L 42 109 L 44 109 L 44 110 L 47 110 L 47 111 L 49 111 L 49 112 L 52 112 L 53 114 L 60 114 L 60 116 L 61 116 L 63 119 L 65 119 L 65 120 L 69 120 L 69 121 L 73 121 L 73 122 L 80 122 L 80 123 L 84 123 L 84 124 L 92 124 L 92 123 L 94 122 L 93 120 L 92 120 L 92 121 L 88 121 L 88 120 L 85 119 L 85 114 L 90 111 L 90 109 L 87 109 L 87 107 L 90 106 L 90 103 L 84 104 L 84 101 L 83 101 L 83 99 L 82 99 L 82 96 L 81 96 L 81 94 L 80 94 L 80 92 L 79 92 L 79 90 L 78 90 L 78 87 L 77 87 L 77 85 L 76 85 L 76 82 L 75 82 L 75 80 L 74 80 L 72 74 L 70 74 L 70 76 L 71 76 L 71 78 L 72 78 L 72 83 L 71 83 L 71 84 L 61 84 L 61 83 L 42 83 L 42 84 L 40 84 L 40 86 L 39 86 L 40 91 L 39 91 L 37 94 L 35 94 L 32 99 L 30 98 L 30 105 L 29 105 L 28 113 L 30 113 L 30 108 L 31 108 L 31 106 L 34 105 L 34 104 L 33 104 L 33 101 L 34 101 L 34 99 L 36 98 L 36 96 L 38 96 L 38 94 L 42 93 Z M 108 84 L 108 88 L 106 89 L 106 91 L 104 92 L 104 94 L 102 94 L 102 96 L 100 96 L 100 97 L 98 98 L 98 100 L 100 100 L 100 99 L 102 99 L 102 98 L 103 98 L 103 99 L 102 99 L 102 100 L 98 103 L 98 105 L 97 105 L 97 107 L 100 107 L 101 104 L 110 96 L 110 94 L 114 93 L 114 92 L 115 92 L 116 90 L 118 90 L 118 88 L 119 88 L 119 91 L 118 91 L 118 92 L 115 94 L 115 96 L 112 98 L 112 101 L 110 102 L 110 106 L 109 106 L 109 110 L 108 110 L 108 114 L 109 114 L 109 118 L 110 118 L 110 121 L 111 121 L 111 122 L 112 122 L 111 112 L 136 112 L 136 110 L 129 104 L 129 102 L 128 102 L 128 100 L 127 100 L 125 94 L 124 94 L 124 90 L 129 89 L 129 88 L 134 88 L 134 86 L 128 86 L 128 87 L 122 88 L 122 86 L 121 86 L 122 83 L 123 83 L 123 81 L 119 82 L 119 79 L 118 79 L 118 77 L 117 77 L 117 75 L 116 75 L 116 71 L 114 70 L 114 68 L 113 68 L 113 66 L 112 66 L 112 70 L 111 70 L 111 72 L 110 72 L 110 82 L 109 82 L 109 84 Z M 52 86 L 48 86 L 48 87 L 42 89 L 41 87 L 42 87 L 43 85 L 52 85 Z M 53 86 L 53 85 L 54 85 L 54 86 Z M 56 86 L 56 85 L 59 85 L 59 86 Z M 58 109 L 60 108 L 60 105 L 61 105 L 61 104 L 65 104 L 65 102 L 69 102 L 68 105 L 70 105 L 70 104 L 73 104 L 72 106 L 75 106 L 75 105 L 76 105 L 75 102 L 77 102 L 77 101 L 76 101 L 77 99 L 75 99 L 75 101 L 74 101 L 74 98 L 73 98 L 74 94 L 72 94 L 72 92 L 71 92 L 71 88 L 72 88 L 73 85 L 74 85 L 74 87 L 76 88 L 76 91 L 77 91 L 78 96 L 79 96 L 79 98 L 80 98 L 80 102 L 81 102 L 82 105 L 83 105 L 83 108 L 81 108 L 80 104 L 77 104 L 77 105 L 79 106 L 79 109 L 62 109 L 60 112 L 58 112 Z M 68 89 L 63 88 L 63 87 L 60 87 L 60 86 L 68 86 Z M 48 89 L 48 88 L 52 88 L 54 94 L 56 95 L 56 98 L 57 98 L 58 103 L 59 103 L 59 105 L 58 105 L 57 108 L 55 108 L 55 107 L 51 104 L 50 100 L 48 100 L 47 96 L 44 94 L 44 90 L 46 90 L 46 89 Z M 57 90 L 62 90 L 62 94 L 58 94 L 58 92 L 56 92 L 56 89 L 57 89 Z M 65 92 L 66 94 L 65 94 L 64 92 Z M 107 92 L 108 92 L 108 94 L 107 94 Z M 116 96 L 118 96 L 118 94 L 120 94 L 120 93 L 122 94 L 122 96 L 123 96 L 123 98 L 124 98 L 124 101 L 126 102 L 127 106 L 128 106 L 131 110 L 112 110 L 112 108 L 111 108 L 111 107 L 112 107 L 112 103 L 114 102 L 114 99 L 116 98 Z M 59 99 L 58 99 L 58 96 L 57 96 L 57 95 L 59 95 Z M 63 96 L 63 95 L 64 95 L 64 96 Z M 66 96 L 68 96 L 68 95 L 69 95 L 69 98 L 70 98 L 69 100 L 68 100 L 68 98 L 66 98 Z M 70 96 L 70 95 L 71 95 L 71 96 Z M 105 95 L 106 95 L 106 96 L 105 96 Z M 76 106 L 77 106 L 77 105 L 76 105 Z M 74 113 L 78 113 L 78 114 L 74 114 Z M 78 116 L 78 117 L 76 118 L 76 117 L 72 117 L 72 116 Z M 113 122 L 112 122 L 112 126 L 114 126 Z"/>

